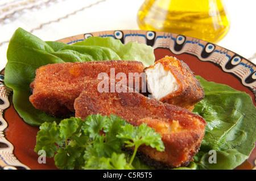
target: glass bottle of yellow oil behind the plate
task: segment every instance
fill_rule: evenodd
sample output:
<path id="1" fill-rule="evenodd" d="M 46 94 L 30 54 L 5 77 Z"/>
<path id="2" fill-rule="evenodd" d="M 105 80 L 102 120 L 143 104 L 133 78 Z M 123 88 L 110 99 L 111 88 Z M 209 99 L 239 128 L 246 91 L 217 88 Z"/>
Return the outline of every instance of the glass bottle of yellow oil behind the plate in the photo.
<path id="1" fill-rule="evenodd" d="M 217 43 L 230 22 L 221 0 L 146 0 L 138 11 L 141 30 L 177 33 Z"/>

